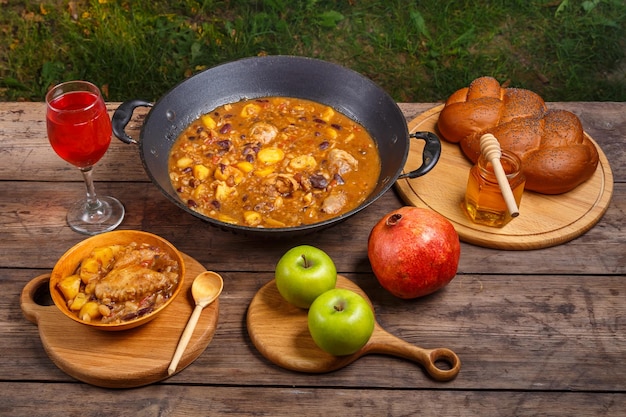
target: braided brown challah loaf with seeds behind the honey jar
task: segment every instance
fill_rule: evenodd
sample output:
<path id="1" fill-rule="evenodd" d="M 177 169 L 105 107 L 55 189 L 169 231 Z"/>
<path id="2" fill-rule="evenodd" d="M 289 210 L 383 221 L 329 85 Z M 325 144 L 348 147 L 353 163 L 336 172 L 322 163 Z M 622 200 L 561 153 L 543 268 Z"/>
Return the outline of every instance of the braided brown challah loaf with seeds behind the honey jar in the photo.
<path id="1" fill-rule="evenodd" d="M 526 189 L 543 194 L 576 188 L 598 165 L 598 151 L 576 115 L 547 110 L 539 95 L 502 88 L 491 77 L 478 78 L 452 94 L 437 127 L 444 139 L 460 143 L 474 163 L 480 155 L 480 137 L 493 134 L 502 149 L 522 160 Z"/>

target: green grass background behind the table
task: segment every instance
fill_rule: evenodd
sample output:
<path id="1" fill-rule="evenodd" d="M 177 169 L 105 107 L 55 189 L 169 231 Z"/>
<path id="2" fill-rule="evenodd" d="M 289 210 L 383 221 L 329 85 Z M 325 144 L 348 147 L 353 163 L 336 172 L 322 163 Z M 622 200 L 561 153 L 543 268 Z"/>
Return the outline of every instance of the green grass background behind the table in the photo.
<path id="1" fill-rule="evenodd" d="M 546 101 L 626 99 L 624 0 L 0 0 L 0 100 L 87 79 L 157 100 L 211 66 L 301 55 L 352 68 L 400 102 L 482 75 Z"/>

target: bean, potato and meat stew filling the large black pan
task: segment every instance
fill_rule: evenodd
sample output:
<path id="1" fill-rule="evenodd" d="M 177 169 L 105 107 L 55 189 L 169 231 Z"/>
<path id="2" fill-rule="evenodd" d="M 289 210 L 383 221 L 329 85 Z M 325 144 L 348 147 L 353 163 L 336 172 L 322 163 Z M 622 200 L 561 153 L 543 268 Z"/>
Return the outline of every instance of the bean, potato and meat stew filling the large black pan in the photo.
<path id="1" fill-rule="evenodd" d="M 380 175 L 376 143 L 334 109 L 268 97 L 221 106 L 191 123 L 169 156 L 187 206 L 249 227 L 318 223 L 358 207 Z"/>

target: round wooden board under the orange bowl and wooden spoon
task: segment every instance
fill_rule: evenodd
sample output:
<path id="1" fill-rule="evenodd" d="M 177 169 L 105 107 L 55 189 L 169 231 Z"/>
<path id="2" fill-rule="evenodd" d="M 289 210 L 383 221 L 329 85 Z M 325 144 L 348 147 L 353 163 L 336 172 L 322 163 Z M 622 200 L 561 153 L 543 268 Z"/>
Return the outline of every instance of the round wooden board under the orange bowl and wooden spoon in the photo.
<path id="1" fill-rule="evenodd" d="M 22 311 L 39 327 L 39 335 L 50 359 L 68 375 L 100 387 L 133 388 L 168 377 L 167 368 L 178 340 L 193 311 L 191 284 L 206 269 L 183 254 L 185 281 L 180 295 L 157 318 L 143 326 L 117 332 L 83 326 L 65 317 L 55 305 L 35 302 L 49 274 L 30 281 L 22 291 Z M 191 364 L 209 345 L 219 315 L 219 299 L 206 307 L 177 372 Z"/>

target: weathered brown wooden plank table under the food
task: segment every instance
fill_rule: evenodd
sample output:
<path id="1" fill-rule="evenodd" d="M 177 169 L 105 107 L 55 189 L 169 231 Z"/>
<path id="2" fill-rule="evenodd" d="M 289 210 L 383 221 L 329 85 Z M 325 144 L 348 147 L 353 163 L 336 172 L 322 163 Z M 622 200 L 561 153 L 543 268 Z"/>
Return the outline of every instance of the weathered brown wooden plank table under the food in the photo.
<path id="1" fill-rule="evenodd" d="M 119 103 L 110 103 L 111 112 Z M 436 103 L 401 104 L 407 119 Z M 394 190 L 355 217 L 291 240 L 257 241 L 212 228 L 171 204 L 149 181 L 138 148 L 113 140 L 96 189 L 124 202 L 122 229 L 173 242 L 225 279 L 215 336 L 189 367 L 159 383 L 112 390 L 79 382 L 48 358 L 20 309 L 32 278 L 84 236 L 65 225 L 84 192 L 58 158 L 42 103 L 0 103 L 0 415 L 623 415 L 626 410 L 626 103 L 550 103 L 573 111 L 608 157 L 614 195 L 600 222 L 563 245 L 506 251 L 462 244 L 457 277 L 431 296 L 401 301 L 367 261 L 373 225 L 403 202 Z M 145 111 L 129 124 L 138 137 Z M 456 379 L 370 355 L 328 374 L 268 362 L 246 331 L 247 306 L 297 244 L 327 251 L 371 298 L 381 325 L 408 342 L 447 347 Z M 85 346 L 85 350 L 97 349 Z"/>

